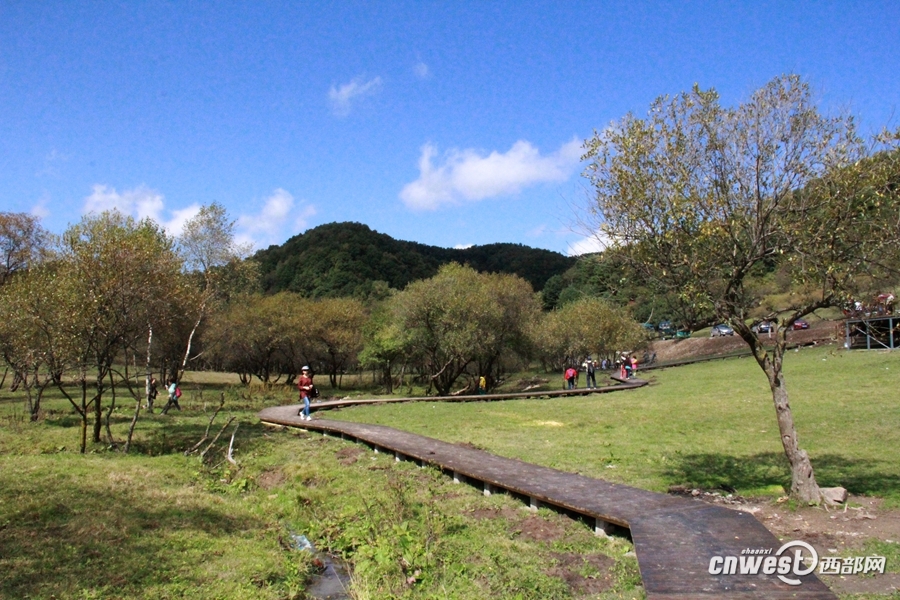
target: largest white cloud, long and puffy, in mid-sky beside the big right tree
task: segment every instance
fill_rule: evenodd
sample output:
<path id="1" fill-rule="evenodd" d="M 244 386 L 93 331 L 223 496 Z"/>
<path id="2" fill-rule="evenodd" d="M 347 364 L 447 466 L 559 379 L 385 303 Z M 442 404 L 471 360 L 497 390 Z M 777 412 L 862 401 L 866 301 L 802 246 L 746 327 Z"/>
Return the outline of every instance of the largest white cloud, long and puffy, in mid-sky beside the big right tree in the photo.
<path id="1" fill-rule="evenodd" d="M 581 142 L 573 139 L 552 154 L 541 156 L 529 142 L 519 140 L 504 154 L 484 156 L 476 150 L 450 150 L 443 164 L 434 165 L 437 148 L 422 147 L 419 178 L 406 184 L 400 199 L 414 209 L 483 200 L 514 194 L 531 185 L 564 181 L 578 166 Z"/>

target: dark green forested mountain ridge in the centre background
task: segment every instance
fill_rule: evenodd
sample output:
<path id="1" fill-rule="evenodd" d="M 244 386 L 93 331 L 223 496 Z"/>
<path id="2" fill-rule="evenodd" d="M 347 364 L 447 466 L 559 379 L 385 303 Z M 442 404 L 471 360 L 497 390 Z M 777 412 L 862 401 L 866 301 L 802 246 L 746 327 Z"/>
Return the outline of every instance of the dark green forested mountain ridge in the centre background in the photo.
<path id="1" fill-rule="evenodd" d="M 289 290 L 312 298 L 378 296 L 432 277 L 450 262 L 481 272 L 514 273 L 539 291 L 575 263 L 558 252 L 522 244 L 453 249 L 405 242 L 361 223 L 320 225 L 260 250 L 254 259 L 266 293 Z"/>

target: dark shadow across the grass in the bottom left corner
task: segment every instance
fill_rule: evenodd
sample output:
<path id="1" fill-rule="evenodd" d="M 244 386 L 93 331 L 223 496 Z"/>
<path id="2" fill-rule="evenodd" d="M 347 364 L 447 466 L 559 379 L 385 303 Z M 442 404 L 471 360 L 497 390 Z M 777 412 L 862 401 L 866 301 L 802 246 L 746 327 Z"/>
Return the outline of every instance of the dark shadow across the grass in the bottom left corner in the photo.
<path id="1" fill-rule="evenodd" d="M 7 474 L 0 482 L 2 598 L 88 597 L 87 590 L 125 598 L 173 583 L 190 590 L 205 575 L 185 561 L 202 564 L 207 553 L 223 551 L 224 538 L 265 528 L 178 490 L 161 498 L 125 484 L 111 489 L 67 477 L 60 485 L 54 474 Z"/>

